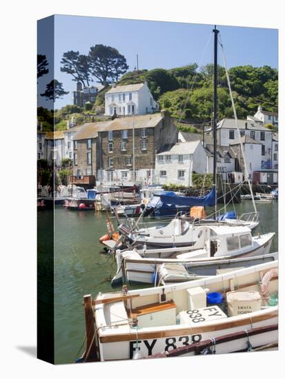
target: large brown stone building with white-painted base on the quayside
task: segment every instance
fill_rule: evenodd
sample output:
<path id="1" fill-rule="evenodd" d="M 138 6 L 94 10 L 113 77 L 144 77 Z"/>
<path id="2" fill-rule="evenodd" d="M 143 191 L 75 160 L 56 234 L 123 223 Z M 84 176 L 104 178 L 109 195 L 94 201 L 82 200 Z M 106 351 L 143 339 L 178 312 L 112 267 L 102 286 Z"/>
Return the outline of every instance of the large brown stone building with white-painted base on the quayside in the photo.
<path id="1" fill-rule="evenodd" d="M 73 174 L 95 175 L 101 183 L 153 183 L 155 155 L 176 141 L 165 111 L 88 123 L 74 136 Z"/>

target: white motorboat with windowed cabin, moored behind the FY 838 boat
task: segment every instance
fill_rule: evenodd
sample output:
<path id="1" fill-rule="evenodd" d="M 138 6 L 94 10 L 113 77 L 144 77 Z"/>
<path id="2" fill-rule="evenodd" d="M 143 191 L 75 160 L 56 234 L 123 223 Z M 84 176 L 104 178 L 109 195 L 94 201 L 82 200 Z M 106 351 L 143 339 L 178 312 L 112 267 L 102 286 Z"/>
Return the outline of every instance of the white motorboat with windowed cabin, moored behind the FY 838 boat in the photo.
<path id="1" fill-rule="evenodd" d="M 179 264 L 177 269 L 184 272 L 181 280 L 185 280 L 187 277 L 190 278 L 191 273 L 207 275 L 209 269 L 213 274 L 215 269 L 220 266 L 222 268 L 222 260 L 271 255 L 269 252 L 275 233 L 253 237 L 247 227 L 228 227 L 227 230 L 219 227 L 204 227 L 204 229 L 204 231 L 200 229 L 197 236 L 201 232 L 202 234 L 191 247 L 127 249 L 123 251 L 117 249 L 115 252 L 117 272 L 112 278 L 112 285 L 119 285 L 123 281 L 126 283 L 155 283 L 154 274 L 159 265 L 163 263 Z M 248 262 L 244 262 L 244 265 L 250 265 L 250 258 L 248 258 Z M 241 266 L 238 266 L 239 264 Z M 252 265 L 254 264 L 253 260 Z M 235 263 L 232 265 L 234 266 Z M 235 267 L 244 267 L 244 265 L 237 262 Z M 203 270 L 205 272 L 202 272 Z"/>

